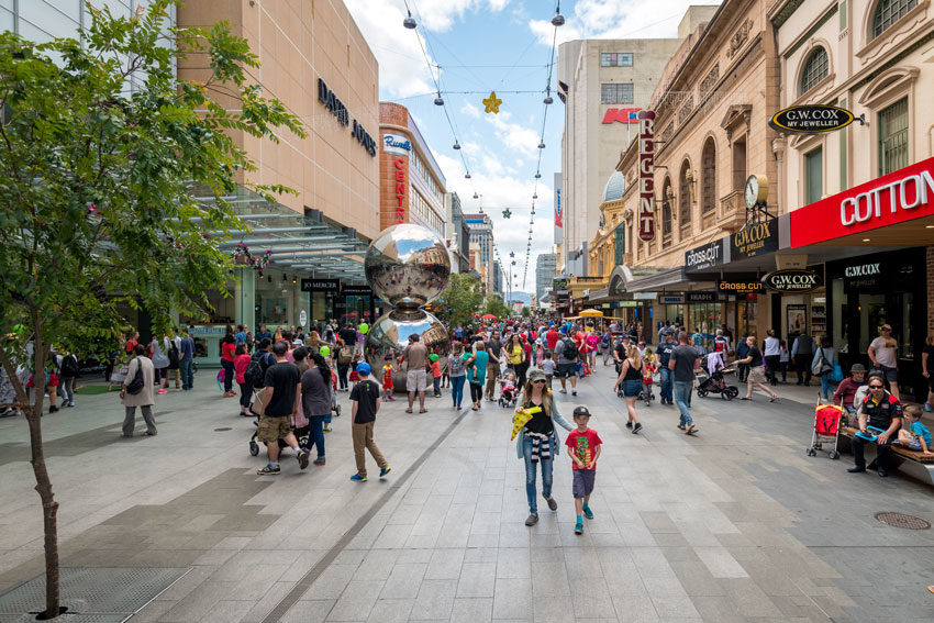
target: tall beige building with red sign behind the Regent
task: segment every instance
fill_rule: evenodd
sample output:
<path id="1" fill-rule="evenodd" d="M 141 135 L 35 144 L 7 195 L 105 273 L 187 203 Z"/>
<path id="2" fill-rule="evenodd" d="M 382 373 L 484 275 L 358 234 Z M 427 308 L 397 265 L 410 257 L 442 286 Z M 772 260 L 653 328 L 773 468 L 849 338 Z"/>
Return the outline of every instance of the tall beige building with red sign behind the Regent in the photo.
<path id="1" fill-rule="evenodd" d="M 679 26 L 714 10 L 691 7 Z M 561 134 L 561 192 L 566 262 L 580 252 L 599 224 L 600 194 L 635 137 L 635 113 L 649 105 L 660 70 L 681 38 L 578 40 L 558 47 L 558 94 L 565 102 Z M 566 263 L 560 264 L 572 272 Z M 581 275 L 581 272 L 577 272 Z"/>

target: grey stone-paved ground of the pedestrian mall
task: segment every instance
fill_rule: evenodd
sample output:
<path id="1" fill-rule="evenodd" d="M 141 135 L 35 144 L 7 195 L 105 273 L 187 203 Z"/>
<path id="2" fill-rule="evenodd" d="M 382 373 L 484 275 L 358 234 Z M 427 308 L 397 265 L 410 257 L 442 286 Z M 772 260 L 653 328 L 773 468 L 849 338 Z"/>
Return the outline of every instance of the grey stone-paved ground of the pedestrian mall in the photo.
<path id="1" fill-rule="evenodd" d="M 777 404 L 694 397 L 694 437 L 674 407 L 640 403 L 633 435 L 611 370 L 556 393 L 566 415 L 587 404 L 604 442 L 580 536 L 567 456 L 558 511 L 540 500 L 526 527 L 510 411 L 454 411 L 449 390 L 423 415 L 383 405 L 392 471 L 379 480 L 368 458 L 366 483 L 348 480 L 346 393 L 327 465 L 300 471 L 286 452 L 277 477 L 256 476 L 253 423 L 210 371 L 157 397 L 156 437 L 120 437 L 115 393 L 79 396 L 43 419 L 62 564 L 191 569 L 132 623 L 934 621 L 934 531 L 874 519 L 934 521 L 934 490 L 808 457 L 816 388 L 780 386 Z M 43 541 L 25 423 L 0 420 L 0 440 L 3 592 L 42 572 Z"/>

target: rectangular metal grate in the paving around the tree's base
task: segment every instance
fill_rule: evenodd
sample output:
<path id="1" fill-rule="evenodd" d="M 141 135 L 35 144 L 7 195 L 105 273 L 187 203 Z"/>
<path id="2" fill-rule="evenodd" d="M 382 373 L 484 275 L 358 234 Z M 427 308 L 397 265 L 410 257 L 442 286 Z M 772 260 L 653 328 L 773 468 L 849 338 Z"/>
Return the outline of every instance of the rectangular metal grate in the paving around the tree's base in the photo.
<path id="1" fill-rule="evenodd" d="M 62 567 L 60 621 L 120 623 L 185 576 L 188 568 Z M 0 623 L 34 621 L 45 610 L 45 575 L 0 594 Z M 32 615 L 29 613 L 33 613 Z"/>

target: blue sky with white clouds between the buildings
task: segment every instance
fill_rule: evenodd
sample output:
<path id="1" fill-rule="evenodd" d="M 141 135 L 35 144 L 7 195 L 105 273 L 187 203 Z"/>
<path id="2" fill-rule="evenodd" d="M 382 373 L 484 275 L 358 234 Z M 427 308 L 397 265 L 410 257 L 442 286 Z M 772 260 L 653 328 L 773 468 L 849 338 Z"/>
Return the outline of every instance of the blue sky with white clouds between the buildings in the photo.
<path id="1" fill-rule="evenodd" d="M 477 212 L 482 205 L 490 214 L 500 257 L 508 262 L 510 252 L 515 253 L 513 289 L 526 292 L 535 290 L 537 255 L 554 249 L 553 181 L 560 170 L 564 104 L 557 97 L 549 107 L 543 103 L 553 37 L 558 44 L 671 37 L 689 4 L 715 3 L 565 0 L 560 8 L 566 23 L 556 35 L 552 0 L 408 0 L 419 23 L 415 31 L 402 26 L 404 0 L 344 1 L 379 62 L 380 99 L 409 109 L 464 210 Z M 441 81 L 444 107 L 434 105 L 433 78 Z M 553 74 L 553 90 L 555 84 Z M 482 100 L 492 90 L 502 99 L 499 114 L 483 111 Z M 462 153 L 452 147 L 455 134 Z M 545 149 L 540 151 L 542 138 Z M 470 179 L 464 177 L 463 160 Z M 480 199 L 474 199 L 475 192 Z M 510 219 L 502 214 L 507 208 Z"/>

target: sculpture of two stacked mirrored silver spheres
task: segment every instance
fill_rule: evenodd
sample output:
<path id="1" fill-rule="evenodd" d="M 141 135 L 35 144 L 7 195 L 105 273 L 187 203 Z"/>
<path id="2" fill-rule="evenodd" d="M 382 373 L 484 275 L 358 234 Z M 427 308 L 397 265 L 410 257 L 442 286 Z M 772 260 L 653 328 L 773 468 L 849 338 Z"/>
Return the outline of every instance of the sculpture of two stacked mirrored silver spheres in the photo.
<path id="1" fill-rule="evenodd" d="M 413 223 L 387 227 L 367 249 L 364 263 L 367 282 L 379 298 L 394 309 L 370 326 L 366 357 L 374 370 L 381 369 L 387 355 L 396 368 L 392 382 L 405 391 L 405 365 L 400 365 L 409 337 L 418 335 L 429 349 L 445 356 L 451 346 L 447 330 L 421 309 L 435 300 L 451 276 L 447 248 L 431 230 Z"/>

